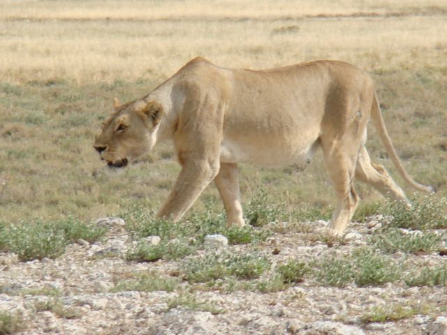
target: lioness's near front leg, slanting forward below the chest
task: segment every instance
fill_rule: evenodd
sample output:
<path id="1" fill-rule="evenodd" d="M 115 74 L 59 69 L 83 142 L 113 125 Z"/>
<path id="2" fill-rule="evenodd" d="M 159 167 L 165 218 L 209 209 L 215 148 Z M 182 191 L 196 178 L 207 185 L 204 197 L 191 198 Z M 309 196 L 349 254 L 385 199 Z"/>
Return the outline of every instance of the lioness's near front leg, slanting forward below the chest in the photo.
<path id="1" fill-rule="evenodd" d="M 157 218 L 179 220 L 219 172 L 219 160 L 186 161 Z"/>

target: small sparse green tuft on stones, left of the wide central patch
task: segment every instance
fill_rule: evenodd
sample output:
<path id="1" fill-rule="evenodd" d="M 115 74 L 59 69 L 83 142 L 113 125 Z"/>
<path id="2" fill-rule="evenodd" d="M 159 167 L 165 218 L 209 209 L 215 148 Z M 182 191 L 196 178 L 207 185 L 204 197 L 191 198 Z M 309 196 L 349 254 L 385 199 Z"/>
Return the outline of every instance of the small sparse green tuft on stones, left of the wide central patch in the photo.
<path id="1" fill-rule="evenodd" d="M 166 277 L 157 274 L 154 271 L 148 271 L 135 274 L 135 278 L 127 278 L 119 281 L 111 292 L 121 291 L 166 291 L 173 292 L 179 285 L 178 278 Z"/>

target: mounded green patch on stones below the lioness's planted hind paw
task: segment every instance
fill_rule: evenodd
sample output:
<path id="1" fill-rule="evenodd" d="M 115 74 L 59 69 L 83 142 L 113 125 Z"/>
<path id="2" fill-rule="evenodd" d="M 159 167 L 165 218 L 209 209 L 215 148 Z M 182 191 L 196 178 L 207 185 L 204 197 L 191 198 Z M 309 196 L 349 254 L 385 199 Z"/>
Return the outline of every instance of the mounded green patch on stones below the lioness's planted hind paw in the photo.
<path id="1" fill-rule="evenodd" d="M 393 282 L 399 278 L 400 269 L 392 258 L 371 248 L 356 248 L 351 255 L 317 260 L 312 267 L 319 283 L 339 288 L 350 283 L 372 286 Z"/>

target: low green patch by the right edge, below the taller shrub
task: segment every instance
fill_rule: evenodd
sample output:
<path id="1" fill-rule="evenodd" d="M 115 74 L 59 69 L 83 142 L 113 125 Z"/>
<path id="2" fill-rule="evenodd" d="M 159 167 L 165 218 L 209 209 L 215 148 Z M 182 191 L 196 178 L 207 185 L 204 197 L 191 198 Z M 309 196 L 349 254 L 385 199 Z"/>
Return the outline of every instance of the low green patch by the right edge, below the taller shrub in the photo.
<path id="1" fill-rule="evenodd" d="M 436 232 L 402 232 L 396 228 L 379 230 L 369 243 L 386 253 L 432 253 L 441 248 L 443 236 Z"/>

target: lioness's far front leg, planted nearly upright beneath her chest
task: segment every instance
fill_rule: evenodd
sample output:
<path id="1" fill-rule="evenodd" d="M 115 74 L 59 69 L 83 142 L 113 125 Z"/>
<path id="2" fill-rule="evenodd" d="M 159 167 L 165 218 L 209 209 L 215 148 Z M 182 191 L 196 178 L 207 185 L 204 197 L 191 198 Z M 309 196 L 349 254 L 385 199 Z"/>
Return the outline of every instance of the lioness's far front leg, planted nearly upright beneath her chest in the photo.
<path id="1" fill-rule="evenodd" d="M 221 163 L 219 173 L 214 178 L 226 210 L 228 225 L 244 225 L 240 204 L 239 172 L 234 163 Z"/>

